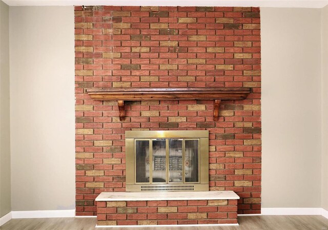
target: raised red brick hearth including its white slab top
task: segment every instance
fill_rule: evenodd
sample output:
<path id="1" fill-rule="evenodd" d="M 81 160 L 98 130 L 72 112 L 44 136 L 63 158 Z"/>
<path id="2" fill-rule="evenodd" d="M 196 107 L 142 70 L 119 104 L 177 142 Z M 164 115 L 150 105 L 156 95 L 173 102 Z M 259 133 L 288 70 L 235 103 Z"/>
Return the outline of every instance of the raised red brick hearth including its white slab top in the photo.
<path id="1" fill-rule="evenodd" d="M 231 191 L 180 192 L 185 196 L 176 198 L 173 193 L 154 194 L 101 193 L 96 199 L 97 225 L 237 224 L 239 197 Z"/>

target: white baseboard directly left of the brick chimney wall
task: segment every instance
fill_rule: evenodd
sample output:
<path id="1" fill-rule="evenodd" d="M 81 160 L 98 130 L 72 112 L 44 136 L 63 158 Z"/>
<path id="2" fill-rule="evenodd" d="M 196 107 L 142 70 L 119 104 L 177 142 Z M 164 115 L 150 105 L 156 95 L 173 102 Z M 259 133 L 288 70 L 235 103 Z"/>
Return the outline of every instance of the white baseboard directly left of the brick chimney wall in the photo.
<path id="1" fill-rule="evenodd" d="M 12 219 L 75 217 L 75 210 L 12 211 Z"/>

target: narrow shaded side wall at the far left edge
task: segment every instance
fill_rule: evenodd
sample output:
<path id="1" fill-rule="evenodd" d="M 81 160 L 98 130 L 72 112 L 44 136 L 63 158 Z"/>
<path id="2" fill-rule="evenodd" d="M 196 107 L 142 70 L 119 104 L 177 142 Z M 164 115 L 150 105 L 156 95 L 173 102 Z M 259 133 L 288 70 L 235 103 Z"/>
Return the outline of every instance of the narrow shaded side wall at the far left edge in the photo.
<path id="1" fill-rule="evenodd" d="M 9 7 L 0 1 L 0 217 L 10 203 Z"/>

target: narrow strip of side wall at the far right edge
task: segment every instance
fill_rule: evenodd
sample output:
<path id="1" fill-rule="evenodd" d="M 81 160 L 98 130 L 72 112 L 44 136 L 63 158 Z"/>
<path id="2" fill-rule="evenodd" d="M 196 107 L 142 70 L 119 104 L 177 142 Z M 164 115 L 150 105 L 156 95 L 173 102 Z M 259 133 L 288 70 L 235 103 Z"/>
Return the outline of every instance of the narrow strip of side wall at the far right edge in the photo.
<path id="1" fill-rule="evenodd" d="M 328 211 L 328 6 L 322 9 L 322 207 Z"/>

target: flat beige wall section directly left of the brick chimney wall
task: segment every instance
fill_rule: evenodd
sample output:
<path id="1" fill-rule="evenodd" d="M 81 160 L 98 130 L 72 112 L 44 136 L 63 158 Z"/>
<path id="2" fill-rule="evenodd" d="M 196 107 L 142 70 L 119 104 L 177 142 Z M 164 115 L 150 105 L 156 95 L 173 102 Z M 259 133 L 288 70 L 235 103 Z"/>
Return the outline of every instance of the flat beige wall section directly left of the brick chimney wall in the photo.
<path id="1" fill-rule="evenodd" d="M 75 208 L 73 7 L 10 7 L 12 210 Z"/>

